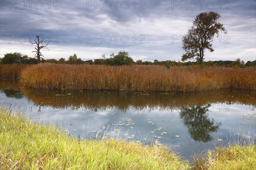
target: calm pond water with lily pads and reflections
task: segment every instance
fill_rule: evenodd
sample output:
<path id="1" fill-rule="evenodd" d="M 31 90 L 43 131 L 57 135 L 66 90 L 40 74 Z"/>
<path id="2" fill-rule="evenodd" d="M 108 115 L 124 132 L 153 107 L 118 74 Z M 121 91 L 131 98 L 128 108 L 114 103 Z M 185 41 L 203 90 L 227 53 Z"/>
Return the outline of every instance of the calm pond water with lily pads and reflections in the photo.
<path id="1" fill-rule="evenodd" d="M 256 93 L 250 91 L 32 90 L 12 79 L 0 80 L 0 89 L 2 106 L 37 122 L 61 125 L 70 136 L 84 139 L 98 134 L 143 144 L 157 140 L 186 158 L 216 144 L 255 139 L 256 118 L 250 116 L 255 114 Z"/>

